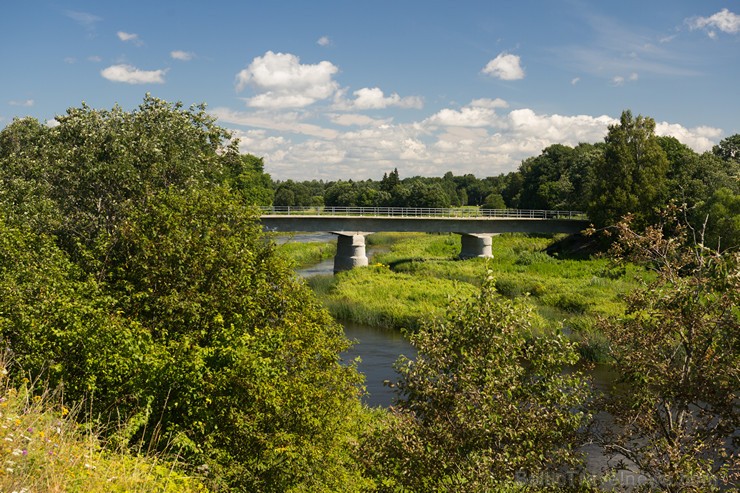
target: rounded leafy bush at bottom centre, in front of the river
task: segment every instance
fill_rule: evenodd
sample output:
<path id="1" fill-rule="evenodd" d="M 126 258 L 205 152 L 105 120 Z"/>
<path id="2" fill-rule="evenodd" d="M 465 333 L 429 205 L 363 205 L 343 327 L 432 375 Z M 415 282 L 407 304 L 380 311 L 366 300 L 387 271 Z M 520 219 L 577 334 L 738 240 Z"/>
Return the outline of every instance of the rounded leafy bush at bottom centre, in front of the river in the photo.
<path id="1" fill-rule="evenodd" d="M 493 491 L 580 467 L 587 385 L 563 372 L 576 350 L 534 335 L 531 309 L 494 284 L 411 335 L 418 355 L 398 361 L 398 403 L 365 446 L 381 491 Z"/>

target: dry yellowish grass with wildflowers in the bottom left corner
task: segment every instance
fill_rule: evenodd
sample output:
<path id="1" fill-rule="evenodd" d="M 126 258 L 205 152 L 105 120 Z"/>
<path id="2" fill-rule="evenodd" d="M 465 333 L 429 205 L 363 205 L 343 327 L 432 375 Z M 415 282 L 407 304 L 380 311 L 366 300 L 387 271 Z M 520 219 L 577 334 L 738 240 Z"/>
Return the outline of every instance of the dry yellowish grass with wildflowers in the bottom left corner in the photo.
<path id="1" fill-rule="evenodd" d="M 53 392 L 13 386 L 0 363 L 0 491 L 204 492 L 156 456 L 106 450 Z"/>

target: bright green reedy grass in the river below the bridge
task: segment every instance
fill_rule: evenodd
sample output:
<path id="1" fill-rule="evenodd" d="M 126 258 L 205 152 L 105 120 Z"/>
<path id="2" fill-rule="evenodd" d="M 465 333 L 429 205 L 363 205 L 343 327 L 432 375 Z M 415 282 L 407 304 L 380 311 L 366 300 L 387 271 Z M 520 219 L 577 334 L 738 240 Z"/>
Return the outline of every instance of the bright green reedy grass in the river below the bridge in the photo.
<path id="1" fill-rule="evenodd" d="M 614 270 L 604 258 L 551 257 L 544 249 L 556 239 L 496 235 L 493 258 L 461 261 L 458 235 L 375 234 L 368 243 L 388 251 L 376 254 L 373 266 L 309 284 L 339 320 L 414 329 L 442 314 L 451 296 L 474 293 L 490 270 L 501 294 L 533 304 L 540 317 L 535 325 L 562 327 L 584 355 L 598 360 L 604 339 L 595 329 L 597 317 L 623 314 L 625 295 L 649 274 L 635 266 Z"/>

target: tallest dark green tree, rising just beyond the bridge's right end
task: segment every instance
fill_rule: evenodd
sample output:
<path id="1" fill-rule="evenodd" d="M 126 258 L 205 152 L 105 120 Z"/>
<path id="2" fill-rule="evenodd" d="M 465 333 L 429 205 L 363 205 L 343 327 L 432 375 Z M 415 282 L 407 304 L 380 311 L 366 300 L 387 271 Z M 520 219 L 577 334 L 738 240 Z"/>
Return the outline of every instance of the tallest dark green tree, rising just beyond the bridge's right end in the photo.
<path id="1" fill-rule="evenodd" d="M 653 222 L 666 202 L 668 159 L 655 136 L 652 118 L 622 112 L 604 138 L 604 159 L 597 162 L 588 213 L 598 227 L 616 224 L 628 213 L 637 225 Z"/>

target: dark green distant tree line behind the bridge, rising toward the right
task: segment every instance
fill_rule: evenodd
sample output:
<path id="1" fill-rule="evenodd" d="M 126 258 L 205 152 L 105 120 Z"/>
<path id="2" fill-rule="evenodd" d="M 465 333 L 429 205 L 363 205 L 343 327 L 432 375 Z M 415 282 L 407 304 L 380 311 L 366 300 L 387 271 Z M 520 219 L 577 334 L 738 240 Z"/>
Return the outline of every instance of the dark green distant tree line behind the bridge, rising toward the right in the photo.
<path id="1" fill-rule="evenodd" d="M 401 178 L 394 169 L 379 181 L 286 180 L 273 188 L 273 203 L 281 206 L 578 210 L 597 227 L 628 213 L 651 224 L 673 201 L 687 205 L 690 223 L 705 228 L 713 245 L 740 244 L 740 135 L 700 154 L 675 137 L 656 136 L 652 118 L 630 111 L 604 142 L 554 144 L 498 176 Z"/>

